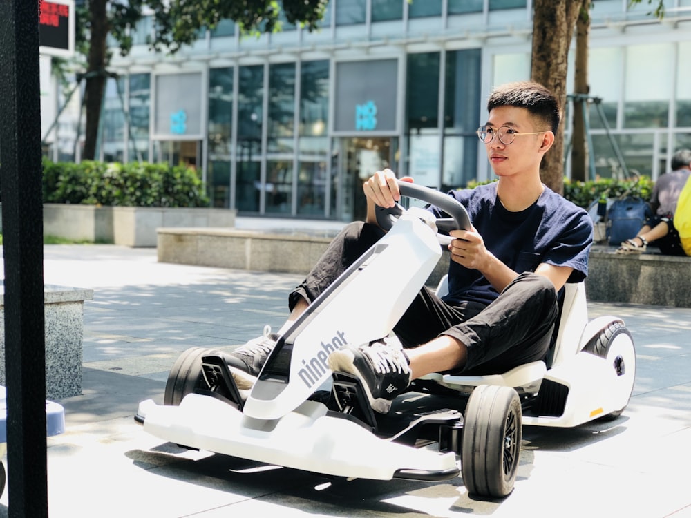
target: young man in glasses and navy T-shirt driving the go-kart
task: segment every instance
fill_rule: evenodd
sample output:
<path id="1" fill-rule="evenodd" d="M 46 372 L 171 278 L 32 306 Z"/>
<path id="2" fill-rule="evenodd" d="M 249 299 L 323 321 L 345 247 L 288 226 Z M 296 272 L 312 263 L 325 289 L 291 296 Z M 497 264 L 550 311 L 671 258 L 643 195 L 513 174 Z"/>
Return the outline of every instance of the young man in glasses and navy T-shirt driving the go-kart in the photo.
<path id="1" fill-rule="evenodd" d="M 477 135 L 499 181 L 450 193 L 474 227 L 451 231 L 448 295 L 438 298 L 423 288 L 394 327 L 395 336 L 328 358 L 331 370 L 361 378 L 378 412 L 388 412 L 413 379 L 430 372 L 498 373 L 544 358 L 558 291 L 587 275 L 589 215 L 540 181 L 540 162 L 560 122 L 558 102 L 539 84 L 522 82 L 495 90 L 487 108 Z M 281 331 L 384 234 L 375 205 L 392 207 L 399 200 L 394 173 L 377 171 L 363 191 L 366 222 L 345 227 L 290 294 L 291 314 Z M 247 386 L 256 379 L 275 338 L 266 335 L 234 353 L 229 363 L 237 381 Z"/>

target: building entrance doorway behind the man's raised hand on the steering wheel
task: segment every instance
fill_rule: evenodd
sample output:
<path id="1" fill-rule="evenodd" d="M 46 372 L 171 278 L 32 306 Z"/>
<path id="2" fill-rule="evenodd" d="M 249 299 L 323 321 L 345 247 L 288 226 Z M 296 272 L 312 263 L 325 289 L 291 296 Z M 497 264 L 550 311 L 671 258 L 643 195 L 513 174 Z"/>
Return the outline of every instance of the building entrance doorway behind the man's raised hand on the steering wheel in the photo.
<path id="1" fill-rule="evenodd" d="M 367 200 L 362 193 L 365 180 L 382 169 L 398 170 L 397 137 L 344 137 L 339 142 L 341 178 L 341 220 L 364 220 Z"/>

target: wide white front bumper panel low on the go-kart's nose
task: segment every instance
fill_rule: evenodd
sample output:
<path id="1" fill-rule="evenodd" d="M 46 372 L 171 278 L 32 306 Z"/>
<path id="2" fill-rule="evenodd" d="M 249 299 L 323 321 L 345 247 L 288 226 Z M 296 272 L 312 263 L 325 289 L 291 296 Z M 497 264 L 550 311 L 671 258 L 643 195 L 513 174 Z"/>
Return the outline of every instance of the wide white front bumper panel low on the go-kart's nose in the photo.
<path id="1" fill-rule="evenodd" d="M 396 470 L 453 472 L 453 453 L 411 448 L 380 439 L 360 425 L 326 415 L 326 407 L 304 401 L 281 419 L 252 419 L 209 396 L 188 394 L 180 406 L 142 401 L 144 430 L 191 448 L 299 470 L 390 480 Z"/>

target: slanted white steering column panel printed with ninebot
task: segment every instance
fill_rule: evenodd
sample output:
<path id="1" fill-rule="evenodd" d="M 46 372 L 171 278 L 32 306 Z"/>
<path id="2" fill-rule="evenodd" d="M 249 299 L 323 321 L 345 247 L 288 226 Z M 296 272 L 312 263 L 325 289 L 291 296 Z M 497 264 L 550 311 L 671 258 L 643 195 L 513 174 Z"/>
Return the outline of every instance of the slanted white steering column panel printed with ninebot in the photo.
<path id="1" fill-rule="evenodd" d="M 376 253 L 357 275 L 341 276 L 347 279 L 337 296 L 318 298 L 306 325 L 296 323 L 302 328 L 290 358 L 290 383 L 258 381 L 245 403 L 245 414 L 278 419 L 291 412 L 330 379 L 326 358 L 331 350 L 387 336 L 442 256 L 435 231 L 408 215 L 401 216 L 373 248 Z M 291 334 L 292 329 L 286 336 Z"/>

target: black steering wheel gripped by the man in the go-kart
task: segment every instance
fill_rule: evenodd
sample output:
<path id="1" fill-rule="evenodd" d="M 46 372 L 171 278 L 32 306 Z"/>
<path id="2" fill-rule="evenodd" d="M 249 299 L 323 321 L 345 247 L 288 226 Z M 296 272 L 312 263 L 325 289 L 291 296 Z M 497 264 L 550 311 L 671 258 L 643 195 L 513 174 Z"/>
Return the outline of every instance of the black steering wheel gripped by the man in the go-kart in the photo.
<path id="1" fill-rule="evenodd" d="M 409 196 L 410 198 L 417 198 L 423 202 L 433 204 L 448 215 L 451 215 L 451 218 L 437 218 L 435 223 L 440 231 L 448 233 L 455 229 L 469 230 L 471 228 L 471 218 L 468 216 L 468 211 L 453 196 L 410 182 L 402 182 L 401 180 L 396 180 L 396 182 L 399 191 L 401 191 L 401 196 Z M 396 220 L 403 215 L 404 211 L 405 209 L 400 204 L 395 204 L 393 207 L 377 206 L 375 207 L 377 224 L 385 231 L 388 231 Z"/>

